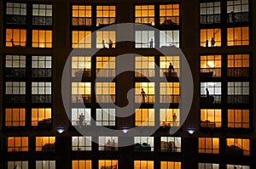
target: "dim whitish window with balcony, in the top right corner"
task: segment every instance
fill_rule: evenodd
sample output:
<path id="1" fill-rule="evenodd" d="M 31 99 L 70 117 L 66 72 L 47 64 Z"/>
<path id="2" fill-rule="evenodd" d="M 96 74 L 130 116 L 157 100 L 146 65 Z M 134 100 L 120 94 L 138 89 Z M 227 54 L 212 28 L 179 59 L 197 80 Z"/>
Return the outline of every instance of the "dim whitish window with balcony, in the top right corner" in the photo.
<path id="1" fill-rule="evenodd" d="M 230 23 L 249 21 L 249 1 L 227 1 L 227 17 Z"/>

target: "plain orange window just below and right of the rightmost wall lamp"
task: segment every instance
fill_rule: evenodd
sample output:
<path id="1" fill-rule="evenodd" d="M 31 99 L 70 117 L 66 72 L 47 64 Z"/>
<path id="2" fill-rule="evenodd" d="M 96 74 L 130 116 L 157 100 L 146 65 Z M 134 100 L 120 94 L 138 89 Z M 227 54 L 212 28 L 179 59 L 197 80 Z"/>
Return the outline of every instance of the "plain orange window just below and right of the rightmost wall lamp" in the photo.
<path id="1" fill-rule="evenodd" d="M 218 138 L 198 138 L 198 153 L 218 154 Z"/>

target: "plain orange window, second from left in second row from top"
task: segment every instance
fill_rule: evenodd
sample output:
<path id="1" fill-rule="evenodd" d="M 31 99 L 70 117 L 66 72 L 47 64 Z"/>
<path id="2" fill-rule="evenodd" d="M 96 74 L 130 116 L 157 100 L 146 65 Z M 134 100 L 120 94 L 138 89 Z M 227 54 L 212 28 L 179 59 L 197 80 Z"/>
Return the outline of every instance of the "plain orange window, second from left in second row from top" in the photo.
<path id="1" fill-rule="evenodd" d="M 52 31 L 32 30 L 32 48 L 51 48 Z"/>

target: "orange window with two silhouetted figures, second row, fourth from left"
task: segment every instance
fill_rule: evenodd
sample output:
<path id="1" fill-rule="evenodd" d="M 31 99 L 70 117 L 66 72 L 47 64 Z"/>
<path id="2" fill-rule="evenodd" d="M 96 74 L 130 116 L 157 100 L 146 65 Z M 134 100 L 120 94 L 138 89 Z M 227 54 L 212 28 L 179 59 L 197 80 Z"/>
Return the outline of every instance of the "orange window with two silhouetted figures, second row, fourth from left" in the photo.
<path id="1" fill-rule="evenodd" d="M 96 31 L 96 48 L 115 48 L 115 31 Z"/>

